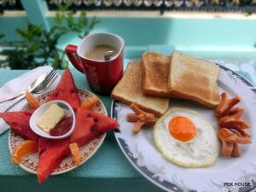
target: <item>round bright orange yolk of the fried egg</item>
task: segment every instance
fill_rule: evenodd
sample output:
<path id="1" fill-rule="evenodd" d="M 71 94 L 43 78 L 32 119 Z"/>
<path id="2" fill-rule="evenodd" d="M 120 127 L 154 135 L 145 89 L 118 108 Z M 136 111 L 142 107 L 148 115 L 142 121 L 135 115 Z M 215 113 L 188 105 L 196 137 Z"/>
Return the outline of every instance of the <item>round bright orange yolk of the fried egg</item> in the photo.
<path id="1" fill-rule="evenodd" d="M 196 135 L 193 122 L 183 116 L 177 116 L 169 122 L 169 132 L 172 137 L 180 142 L 189 142 Z"/>

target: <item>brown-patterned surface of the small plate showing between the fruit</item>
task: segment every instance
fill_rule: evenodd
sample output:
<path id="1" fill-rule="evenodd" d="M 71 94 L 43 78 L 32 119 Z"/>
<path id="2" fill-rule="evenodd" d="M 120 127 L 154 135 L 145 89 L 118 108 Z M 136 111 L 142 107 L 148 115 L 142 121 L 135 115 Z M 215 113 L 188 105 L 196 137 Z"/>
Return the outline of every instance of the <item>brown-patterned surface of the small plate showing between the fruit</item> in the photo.
<path id="1" fill-rule="evenodd" d="M 47 98 L 51 95 L 53 90 L 49 90 L 48 92 L 45 92 L 43 95 L 38 96 L 38 100 L 41 103 L 44 103 Z M 83 102 L 86 98 L 95 96 L 93 93 L 91 93 L 88 90 L 78 89 L 78 94 L 80 97 L 80 101 Z M 29 106 L 26 104 L 22 110 L 29 109 Z M 104 104 L 99 100 L 99 102 L 96 103 L 96 106 L 94 108 L 94 111 L 96 113 L 102 113 L 103 115 L 108 115 L 107 109 L 105 108 Z M 92 140 L 90 143 L 80 147 L 80 152 L 82 155 L 82 161 L 81 164 L 83 164 L 85 161 L 89 160 L 90 157 L 96 153 L 98 148 L 101 147 L 104 138 L 106 137 L 106 133 L 104 133 L 100 137 L 96 137 L 94 140 Z M 17 146 L 20 142 L 24 141 L 22 137 L 17 135 L 13 129 L 10 129 L 9 131 L 9 151 L 12 153 L 15 146 Z M 21 163 L 19 164 L 20 167 L 27 172 L 32 172 L 34 174 L 37 174 L 38 169 L 38 153 L 30 154 L 26 156 Z M 58 175 L 64 172 L 69 172 L 76 168 L 78 166 L 75 165 L 73 158 L 68 156 L 64 160 L 62 160 L 61 165 L 55 168 L 55 171 L 52 173 L 52 175 Z"/>

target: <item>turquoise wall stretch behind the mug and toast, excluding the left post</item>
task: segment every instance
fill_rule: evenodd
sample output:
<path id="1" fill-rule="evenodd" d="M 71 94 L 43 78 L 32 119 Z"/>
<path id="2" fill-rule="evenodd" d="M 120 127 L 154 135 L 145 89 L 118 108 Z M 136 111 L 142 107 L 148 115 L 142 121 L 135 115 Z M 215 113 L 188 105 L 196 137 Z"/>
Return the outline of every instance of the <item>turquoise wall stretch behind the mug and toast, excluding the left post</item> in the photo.
<path id="1" fill-rule="evenodd" d="M 48 19 L 49 23 L 52 19 Z M 256 20 L 100 18 L 94 32 L 113 32 L 125 39 L 129 54 L 148 47 L 180 49 L 200 56 L 256 57 Z M 67 36 L 62 44 L 79 44 Z M 239 53 L 239 54 L 237 54 Z M 127 53 L 128 54 L 128 53 Z"/>

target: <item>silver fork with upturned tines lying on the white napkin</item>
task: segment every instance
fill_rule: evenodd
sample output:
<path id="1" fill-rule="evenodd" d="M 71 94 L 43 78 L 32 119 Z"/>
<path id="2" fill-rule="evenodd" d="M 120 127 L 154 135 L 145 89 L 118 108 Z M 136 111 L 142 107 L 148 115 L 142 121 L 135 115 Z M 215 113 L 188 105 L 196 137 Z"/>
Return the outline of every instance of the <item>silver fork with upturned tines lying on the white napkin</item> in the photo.
<path id="1" fill-rule="evenodd" d="M 6 112 L 9 108 L 12 108 L 17 102 L 20 102 L 22 99 L 26 97 L 26 92 L 30 91 L 32 93 L 42 93 L 44 90 L 48 89 L 51 84 L 57 79 L 58 74 L 56 73 L 55 69 L 53 69 L 47 76 L 45 77 L 44 81 L 41 84 L 38 84 L 33 90 L 26 90 L 21 96 L 17 97 L 12 103 L 3 108 L 0 108 L 1 112 Z"/>

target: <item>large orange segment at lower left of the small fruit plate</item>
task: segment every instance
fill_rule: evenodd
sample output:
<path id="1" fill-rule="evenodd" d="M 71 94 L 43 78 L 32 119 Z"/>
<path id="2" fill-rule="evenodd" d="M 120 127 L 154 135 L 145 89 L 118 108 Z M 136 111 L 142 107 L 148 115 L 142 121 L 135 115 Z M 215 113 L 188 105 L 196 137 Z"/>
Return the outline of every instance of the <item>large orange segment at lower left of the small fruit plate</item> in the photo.
<path id="1" fill-rule="evenodd" d="M 14 164 L 19 164 L 23 157 L 38 151 L 38 143 L 32 140 L 25 140 L 15 147 L 11 154 Z"/>

